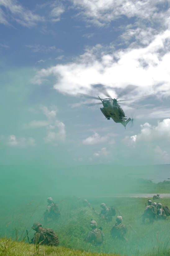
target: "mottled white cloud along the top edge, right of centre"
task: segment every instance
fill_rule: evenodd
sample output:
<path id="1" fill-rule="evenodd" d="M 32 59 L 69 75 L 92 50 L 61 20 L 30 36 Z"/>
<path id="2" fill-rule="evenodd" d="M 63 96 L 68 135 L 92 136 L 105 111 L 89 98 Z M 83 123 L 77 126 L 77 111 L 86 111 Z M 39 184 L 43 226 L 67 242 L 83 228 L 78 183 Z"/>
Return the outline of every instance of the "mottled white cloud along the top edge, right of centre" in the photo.
<path id="1" fill-rule="evenodd" d="M 75 7 L 80 9 L 80 17 L 85 21 L 92 22 L 96 26 L 103 26 L 113 20 L 126 16 L 128 18 L 137 17 L 141 22 L 147 23 L 163 22 L 168 16 L 167 10 L 161 11 L 159 0 L 72 0 Z M 163 4 L 163 3 L 162 3 Z"/>

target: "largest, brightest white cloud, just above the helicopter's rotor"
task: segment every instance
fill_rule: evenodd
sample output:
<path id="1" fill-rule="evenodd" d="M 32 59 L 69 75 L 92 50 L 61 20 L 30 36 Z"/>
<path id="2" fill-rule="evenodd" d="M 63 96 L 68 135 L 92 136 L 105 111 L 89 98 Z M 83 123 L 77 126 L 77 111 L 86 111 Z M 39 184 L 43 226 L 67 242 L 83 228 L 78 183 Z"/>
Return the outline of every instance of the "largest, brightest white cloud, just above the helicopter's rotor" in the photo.
<path id="1" fill-rule="evenodd" d="M 109 89 L 137 85 L 136 96 L 157 92 L 170 95 L 169 42 L 170 31 L 167 30 L 155 36 L 148 46 L 138 49 L 115 51 L 111 46 L 112 53 L 108 54 L 101 45 L 96 45 L 87 48 L 75 62 L 40 70 L 34 82 L 41 84 L 44 77 L 52 75 L 56 77 L 54 88 L 70 95 L 92 93 L 95 84 Z M 113 89 L 111 93 L 117 96 Z"/>

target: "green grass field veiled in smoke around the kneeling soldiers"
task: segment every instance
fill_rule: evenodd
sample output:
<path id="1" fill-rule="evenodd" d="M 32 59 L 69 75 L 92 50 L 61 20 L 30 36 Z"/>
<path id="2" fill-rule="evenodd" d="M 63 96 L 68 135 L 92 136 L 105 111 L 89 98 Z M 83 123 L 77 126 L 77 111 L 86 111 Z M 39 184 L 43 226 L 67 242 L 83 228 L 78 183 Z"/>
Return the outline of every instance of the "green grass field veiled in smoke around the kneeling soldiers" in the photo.
<path id="1" fill-rule="evenodd" d="M 29 198 L 28 198 L 29 199 Z M 33 237 L 34 231 L 30 229 L 35 221 L 43 223 L 43 213 L 46 209 L 46 198 L 42 200 L 39 196 L 35 197 L 33 201 L 27 198 L 18 198 L 14 204 L 9 204 L 4 200 L 0 211 L 0 230 L 1 237 L 13 239 L 14 242 L 8 240 L 8 243 L 15 244 L 10 249 L 10 254 L 4 255 L 21 255 L 12 254 L 11 252 L 15 247 L 19 251 L 24 250 L 22 255 L 35 254 L 34 248 L 26 240 L 26 229 L 29 230 L 30 238 Z M 116 216 L 123 216 L 123 223 L 127 227 L 126 242 L 113 239 L 110 236 L 110 229 L 116 222 L 116 216 L 113 221 L 106 223 L 88 206 L 84 205 L 83 198 L 67 197 L 67 198 L 54 198 L 59 203 L 61 210 L 61 217 L 55 223 L 49 221 L 45 227 L 51 228 L 58 234 L 60 241 L 60 249 L 69 248 L 70 253 L 65 251 L 63 254 L 58 252 L 51 252 L 51 248 L 40 249 L 45 250 L 43 255 L 85 255 L 82 252 L 74 254 L 71 249 L 84 250 L 91 253 L 106 253 L 106 254 L 120 254 L 120 255 L 169 255 L 169 219 L 156 221 L 154 224 L 149 224 L 146 219 L 146 224 L 142 225 L 143 211 L 145 209 L 146 198 L 87 198 L 90 204 L 96 211 L 100 212 L 100 204 L 105 203 L 108 206 L 116 208 Z M 169 205 L 169 199 L 159 199 L 163 205 Z M 90 220 L 94 219 L 98 223 L 98 227 L 102 226 L 105 234 L 104 242 L 102 245 L 94 245 L 84 242 L 86 234 L 90 230 Z M 2 240 L 5 243 L 5 240 Z M 1 253 L 4 249 L 1 241 Z M 16 241 L 24 241 L 24 243 L 17 244 Z M 10 247 L 10 246 L 9 246 Z M 31 249 L 29 249 L 31 248 Z M 41 250 L 39 253 L 41 253 Z M 58 249 L 56 249 L 58 250 Z M 28 252 L 27 252 L 28 251 Z M 43 251 L 44 252 L 44 251 Z M 163 254 L 164 252 L 164 254 Z M 26 254 L 28 253 L 28 254 Z M 73 254 L 71 254 L 73 253 Z M 30 254 L 30 255 L 31 255 Z M 3 254 L 2 254 L 3 255 Z M 87 254 L 91 255 L 91 254 Z M 93 254 L 95 255 L 95 254 Z"/>

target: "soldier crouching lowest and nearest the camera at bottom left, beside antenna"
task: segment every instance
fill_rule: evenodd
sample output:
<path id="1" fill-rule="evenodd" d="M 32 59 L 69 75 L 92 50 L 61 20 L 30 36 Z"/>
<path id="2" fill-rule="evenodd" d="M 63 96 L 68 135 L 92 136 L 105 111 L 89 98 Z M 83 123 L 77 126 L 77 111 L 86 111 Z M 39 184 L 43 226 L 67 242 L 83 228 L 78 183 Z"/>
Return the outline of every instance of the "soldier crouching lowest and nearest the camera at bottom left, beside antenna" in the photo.
<path id="1" fill-rule="evenodd" d="M 52 229 L 42 228 L 42 225 L 39 222 L 35 222 L 32 225 L 32 229 L 35 230 L 34 237 L 31 239 L 32 244 L 44 244 L 51 246 L 57 246 L 59 244 L 57 234 Z"/>

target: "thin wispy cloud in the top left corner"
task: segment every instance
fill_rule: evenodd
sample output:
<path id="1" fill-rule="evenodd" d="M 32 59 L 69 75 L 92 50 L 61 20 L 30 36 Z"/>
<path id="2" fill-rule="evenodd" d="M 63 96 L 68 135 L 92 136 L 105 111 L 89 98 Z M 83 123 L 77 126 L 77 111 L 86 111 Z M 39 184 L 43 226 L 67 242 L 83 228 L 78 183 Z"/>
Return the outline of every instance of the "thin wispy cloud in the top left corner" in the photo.
<path id="1" fill-rule="evenodd" d="M 27 10 L 15 0 L 0 0 L 0 22 L 10 25 L 11 19 L 24 27 L 34 27 L 37 22 L 44 21 L 44 17 Z"/>

